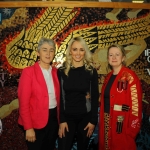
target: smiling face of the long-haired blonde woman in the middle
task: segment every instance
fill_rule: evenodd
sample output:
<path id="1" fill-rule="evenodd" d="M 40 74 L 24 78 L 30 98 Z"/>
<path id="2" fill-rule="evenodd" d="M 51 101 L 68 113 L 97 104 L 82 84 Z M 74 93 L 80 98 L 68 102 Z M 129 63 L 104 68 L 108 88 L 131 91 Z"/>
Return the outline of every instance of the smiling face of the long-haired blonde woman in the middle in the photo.
<path id="1" fill-rule="evenodd" d="M 80 42 L 75 41 L 70 50 L 70 54 L 72 56 L 73 63 L 81 63 L 83 64 L 85 50 Z"/>

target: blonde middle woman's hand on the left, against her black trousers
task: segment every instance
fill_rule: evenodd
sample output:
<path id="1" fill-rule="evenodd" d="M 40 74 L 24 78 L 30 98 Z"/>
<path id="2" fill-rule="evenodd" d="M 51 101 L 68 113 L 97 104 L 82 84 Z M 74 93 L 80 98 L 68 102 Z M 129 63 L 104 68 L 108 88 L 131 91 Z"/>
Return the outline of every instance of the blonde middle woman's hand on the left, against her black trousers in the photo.
<path id="1" fill-rule="evenodd" d="M 67 122 L 60 123 L 58 135 L 60 138 L 65 137 L 65 131 L 69 132 Z"/>

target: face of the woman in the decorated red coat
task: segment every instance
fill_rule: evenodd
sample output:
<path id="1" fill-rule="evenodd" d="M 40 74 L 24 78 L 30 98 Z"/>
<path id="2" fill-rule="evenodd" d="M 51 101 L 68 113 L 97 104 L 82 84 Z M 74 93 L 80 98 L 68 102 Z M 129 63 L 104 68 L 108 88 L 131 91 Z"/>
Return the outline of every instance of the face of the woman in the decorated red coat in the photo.
<path id="1" fill-rule="evenodd" d="M 122 52 L 117 47 L 111 47 L 108 52 L 108 63 L 112 66 L 112 68 L 117 68 L 122 66 L 122 62 L 125 57 L 122 55 Z"/>

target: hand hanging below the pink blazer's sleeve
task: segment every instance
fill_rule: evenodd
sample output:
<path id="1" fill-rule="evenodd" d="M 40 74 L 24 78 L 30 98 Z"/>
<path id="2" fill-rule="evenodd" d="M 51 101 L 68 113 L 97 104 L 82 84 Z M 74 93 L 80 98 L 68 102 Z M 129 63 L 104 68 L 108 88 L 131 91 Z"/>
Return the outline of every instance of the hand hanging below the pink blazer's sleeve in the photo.
<path id="1" fill-rule="evenodd" d="M 29 142 L 34 142 L 36 140 L 35 131 L 33 128 L 26 130 L 26 140 Z"/>

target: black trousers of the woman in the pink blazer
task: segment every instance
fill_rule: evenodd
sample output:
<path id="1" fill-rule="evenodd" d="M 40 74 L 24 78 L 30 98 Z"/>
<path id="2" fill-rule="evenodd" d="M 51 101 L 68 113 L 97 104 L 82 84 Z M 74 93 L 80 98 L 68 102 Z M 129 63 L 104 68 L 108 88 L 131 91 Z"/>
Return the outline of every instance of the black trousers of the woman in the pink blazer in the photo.
<path id="1" fill-rule="evenodd" d="M 28 150 L 54 150 L 58 138 L 57 108 L 49 109 L 48 123 L 44 128 L 34 130 L 36 141 L 26 141 Z"/>

